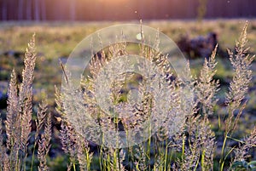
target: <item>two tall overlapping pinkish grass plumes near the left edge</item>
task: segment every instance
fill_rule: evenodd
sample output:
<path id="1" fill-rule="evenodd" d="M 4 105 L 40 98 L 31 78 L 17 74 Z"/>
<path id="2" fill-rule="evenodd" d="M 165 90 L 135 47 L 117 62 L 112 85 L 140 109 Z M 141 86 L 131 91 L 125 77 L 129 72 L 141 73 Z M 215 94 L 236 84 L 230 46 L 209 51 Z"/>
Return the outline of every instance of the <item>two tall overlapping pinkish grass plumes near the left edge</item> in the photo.
<path id="1" fill-rule="evenodd" d="M 27 141 L 31 133 L 32 121 L 32 80 L 36 62 L 35 35 L 26 48 L 22 82 L 16 81 L 15 70 L 12 71 L 8 90 L 7 120 L 5 122 L 7 134 L 6 157 L 8 164 L 3 168 L 10 170 L 26 169 Z M 19 93 L 18 93 L 19 92 Z"/>

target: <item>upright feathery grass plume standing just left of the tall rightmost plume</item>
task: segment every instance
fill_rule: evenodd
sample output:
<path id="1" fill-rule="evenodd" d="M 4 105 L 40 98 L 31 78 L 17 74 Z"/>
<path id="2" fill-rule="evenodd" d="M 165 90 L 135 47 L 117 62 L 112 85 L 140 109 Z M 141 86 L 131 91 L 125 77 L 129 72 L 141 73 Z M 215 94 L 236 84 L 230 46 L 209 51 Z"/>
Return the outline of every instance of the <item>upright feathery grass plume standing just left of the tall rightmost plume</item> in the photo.
<path id="1" fill-rule="evenodd" d="M 212 132 L 208 116 L 212 115 L 213 107 L 216 105 L 215 99 L 218 92 L 218 81 L 213 80 L 213 76 L 216 73 L 215 66 L 217 62 L 215 55 L 217 52 L 217 46 L 212 51 L 212 55 L 209 60 L 205 60 L 205 63 L 201 69 L 201 74 L 198 77 L 196 84 L 196 95 L 201 103 L 201 115 L 203 118 L 199 120 L 199 134 L 201 135 L 201 168 L 202 170 L 213 170 L 213 151 L 215 146 L 215 134 Z"/>

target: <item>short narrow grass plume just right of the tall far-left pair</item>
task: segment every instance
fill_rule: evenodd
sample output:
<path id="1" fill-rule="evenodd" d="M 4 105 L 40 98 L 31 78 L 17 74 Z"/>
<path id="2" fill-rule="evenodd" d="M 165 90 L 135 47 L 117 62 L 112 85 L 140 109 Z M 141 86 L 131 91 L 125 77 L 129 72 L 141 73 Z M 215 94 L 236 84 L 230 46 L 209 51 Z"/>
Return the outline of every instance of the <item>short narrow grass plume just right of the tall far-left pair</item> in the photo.
<path id="1" fill-rule="evenodd" d="M 46 116 L 46 123 L 44 125 L 44 134 L 41 134 L 41 137 L 40 137 L 41 139 L 38 139 L 38 161 L 39 161 L 38 170 L 39 171 L 49 170 L 47 166 L 46 157 L 51 147 L 50 145 L 51 132 L 52 132 L 51 115 L 48 114 Z"/>

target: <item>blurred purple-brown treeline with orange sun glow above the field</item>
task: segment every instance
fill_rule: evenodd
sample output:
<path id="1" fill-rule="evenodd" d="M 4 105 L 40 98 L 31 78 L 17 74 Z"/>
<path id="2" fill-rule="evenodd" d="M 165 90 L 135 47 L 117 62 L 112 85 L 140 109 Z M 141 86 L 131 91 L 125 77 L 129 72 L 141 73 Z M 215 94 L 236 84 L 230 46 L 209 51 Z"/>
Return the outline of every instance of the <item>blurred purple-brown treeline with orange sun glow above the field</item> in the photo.
<path id="1" fill-rule="evenodd" d="M 1 0 L 0 20 L 253 18 L 254 0 Z"/>

